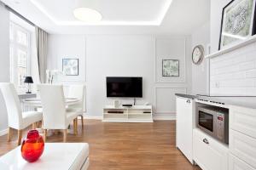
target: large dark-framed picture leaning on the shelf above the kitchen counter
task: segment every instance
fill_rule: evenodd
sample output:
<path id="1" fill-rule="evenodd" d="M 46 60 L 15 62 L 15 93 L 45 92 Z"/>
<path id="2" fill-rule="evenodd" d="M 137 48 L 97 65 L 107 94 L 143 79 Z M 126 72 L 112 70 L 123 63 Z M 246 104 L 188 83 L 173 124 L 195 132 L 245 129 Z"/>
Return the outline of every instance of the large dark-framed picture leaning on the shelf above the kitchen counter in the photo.
<path id="1" fill-rule="evenodd" d="M 255 1 L 232 0 L 223 8 L 218 49 L 255 34 Z"/>

